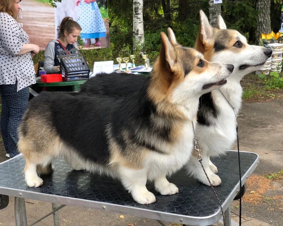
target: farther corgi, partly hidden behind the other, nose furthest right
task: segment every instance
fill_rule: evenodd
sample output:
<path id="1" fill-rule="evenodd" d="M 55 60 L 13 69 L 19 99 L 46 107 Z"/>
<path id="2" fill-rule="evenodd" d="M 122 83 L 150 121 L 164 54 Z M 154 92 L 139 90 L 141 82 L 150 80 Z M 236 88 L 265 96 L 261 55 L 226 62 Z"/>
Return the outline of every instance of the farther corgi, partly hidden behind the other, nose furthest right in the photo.
<path id="1" fill-rule="evenodd" d="M 196 39 L 196 50 L 211 62 L 233 64 L 234 71 L 227 78 L 227 83 L 220 89 L 203 94 L 199 99 L 197 114 L 198 125 L 196 137 L 203 152 L 202 162 L 212 185 L 221 183 L 217 167 L 210 161 L 210 156 L 219 156 L 225 150 L 231 149 L 236 140 L 236 117 L 242 102 L 242 87 L 240 80 L 248 73 L 260 69 L 271 56 L 270 49 L 253 46 L 236 30 L 227 29 L 221 16 L 218 17 L 218 27 L 210 26 L 209 21 L 200 11 L 200 29 Z M 170 39 L 170 35 L 169 35 Z M 171 41 L 176 45 L 176 39 Z M 138 86 L 142 86 L 145 77 L 126 73 L 112 73 L 89 79 L 82 85 L 80 92 L 102 94 L 109 96 L 132 95 Z M 105 82 L 105 84 L 103 84 Z M 129 87 L 126 85 L 129 82 Z M 133 85 L 132 85 L 133 84 Z M 225 97 L 224 97 L 224 96 Z M 230 104 L 235 110 L 232 109 Z M 196 153 L 196 152 L 193 152 Z M 210 186 L 197 157 L 192 157 L 187 164 L 188 172 L 205 185 Z"/>

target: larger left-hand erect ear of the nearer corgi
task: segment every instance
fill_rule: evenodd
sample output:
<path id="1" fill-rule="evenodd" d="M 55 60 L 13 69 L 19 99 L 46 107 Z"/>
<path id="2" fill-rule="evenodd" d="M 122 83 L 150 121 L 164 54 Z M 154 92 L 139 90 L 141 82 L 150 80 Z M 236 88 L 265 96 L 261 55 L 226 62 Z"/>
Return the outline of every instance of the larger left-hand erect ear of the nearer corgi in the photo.
<path id="1" fill-rule="evenodd" d="M 159 60 L 167 69 L 173 72 L 174 65 L 176 64 L 177 54 L 174 46 L 171 44 L 164 32 L 160 33 L 161 36 L 161 49 Z"/>

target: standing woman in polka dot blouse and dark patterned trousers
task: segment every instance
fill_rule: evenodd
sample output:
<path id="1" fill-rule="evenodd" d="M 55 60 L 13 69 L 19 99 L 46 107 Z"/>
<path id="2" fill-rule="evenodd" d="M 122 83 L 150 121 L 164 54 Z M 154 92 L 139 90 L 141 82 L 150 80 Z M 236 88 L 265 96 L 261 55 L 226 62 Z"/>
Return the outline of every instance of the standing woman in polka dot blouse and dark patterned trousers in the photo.
<path id="1" fill-rule="evenodd" d="M 31 55 L 39 51 L 16 21 L 20 9 L 20 0 L 0 1 L 1 134 L 7 157 L 18 153 L 17 128 L 28 104 L 28 86 L 36 83 Z"/>

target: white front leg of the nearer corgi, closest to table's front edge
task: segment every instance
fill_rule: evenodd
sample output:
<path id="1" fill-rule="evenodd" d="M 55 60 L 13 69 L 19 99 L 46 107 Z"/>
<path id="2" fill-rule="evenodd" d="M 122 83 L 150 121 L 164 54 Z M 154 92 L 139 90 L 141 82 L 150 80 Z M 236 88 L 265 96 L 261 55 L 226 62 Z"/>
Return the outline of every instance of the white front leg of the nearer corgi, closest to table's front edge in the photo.
<path id="1" fill-rule="evenodd" d="M 120 165 L 119 176 L 124 187 L 129 190 L 133 199 L 140 204 L 155 202 L 155 196 L 146 188 L 147 170 L 134 170 Z"/>

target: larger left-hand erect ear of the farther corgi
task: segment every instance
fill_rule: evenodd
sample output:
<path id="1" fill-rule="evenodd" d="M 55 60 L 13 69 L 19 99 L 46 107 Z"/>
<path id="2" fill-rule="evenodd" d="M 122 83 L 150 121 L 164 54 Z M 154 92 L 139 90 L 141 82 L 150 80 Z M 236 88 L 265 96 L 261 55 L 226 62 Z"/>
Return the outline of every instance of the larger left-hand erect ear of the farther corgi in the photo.
<path id="1" fill-rule="evenodd" d="M 200 14 L 200 29 L 199 29 L 199 36 L 201 42 L 206 45 L 209 44 L 210 40 L 213 38 L 213 27 L 209 24 L 207 16 L 201 10 Z"/>

